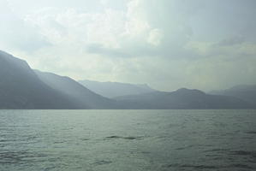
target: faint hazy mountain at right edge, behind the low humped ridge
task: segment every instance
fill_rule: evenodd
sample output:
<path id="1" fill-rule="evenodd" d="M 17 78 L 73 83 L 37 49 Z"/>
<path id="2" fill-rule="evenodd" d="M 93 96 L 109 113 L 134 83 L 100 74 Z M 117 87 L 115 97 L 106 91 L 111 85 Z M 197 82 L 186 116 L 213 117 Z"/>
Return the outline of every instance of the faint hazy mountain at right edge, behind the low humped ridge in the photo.
<path id="1" fill-rule="evenodd" d="M 209 93 L 238 97 L 256 106 L 256 85 L 236 85 L 226 90 L 210 91 Z"/>

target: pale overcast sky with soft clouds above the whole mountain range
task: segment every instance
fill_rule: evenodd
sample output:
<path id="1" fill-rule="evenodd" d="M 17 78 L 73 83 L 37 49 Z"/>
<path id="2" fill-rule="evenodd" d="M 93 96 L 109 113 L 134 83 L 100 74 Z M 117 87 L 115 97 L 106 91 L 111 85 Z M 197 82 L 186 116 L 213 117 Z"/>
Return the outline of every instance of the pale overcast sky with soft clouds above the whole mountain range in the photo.
<path id="1" fill-rule="evenodd" d="M 256 84 L 255 0 L 0 0 L 0 50 L 74 80 Z"/>

